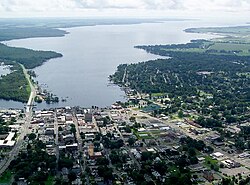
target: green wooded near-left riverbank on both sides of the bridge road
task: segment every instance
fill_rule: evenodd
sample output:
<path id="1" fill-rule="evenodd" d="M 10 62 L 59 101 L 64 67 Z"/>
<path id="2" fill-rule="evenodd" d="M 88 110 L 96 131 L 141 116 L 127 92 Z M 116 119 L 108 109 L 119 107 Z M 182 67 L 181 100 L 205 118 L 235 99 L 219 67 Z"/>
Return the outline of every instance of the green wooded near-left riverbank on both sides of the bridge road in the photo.
<path id="1" fill-rule="evenodd" d="M 61 56 L 61 54 L 52 51 L 34 51 L 0 44 L 0 60 L 5 65 L 11 65 L 11 73 L 0 78 L 0 98 L 27 102 L 30 87 L 19 64 L 30 69 L 42 65 L 46 60 Z M 58 101 L 58 98 L 52 97 L 52 95 L 46 101 L 51 102 L 51 99 Z"/>

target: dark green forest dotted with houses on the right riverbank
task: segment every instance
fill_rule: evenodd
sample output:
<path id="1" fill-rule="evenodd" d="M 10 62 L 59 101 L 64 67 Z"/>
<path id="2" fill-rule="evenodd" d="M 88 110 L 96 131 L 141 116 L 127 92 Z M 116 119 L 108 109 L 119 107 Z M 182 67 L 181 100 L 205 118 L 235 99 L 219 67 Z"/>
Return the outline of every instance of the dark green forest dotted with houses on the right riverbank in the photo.
<path id="1" fill-rule="evenodd" d="M 205 127 L 249 120 L 250 57 L 179 51 L 198 45 L 140 46 L 170 58 L 122 64 L 110 78 L 139 93 L 165 94 L 170 100 L 160 113 L 193 111 Z"/>

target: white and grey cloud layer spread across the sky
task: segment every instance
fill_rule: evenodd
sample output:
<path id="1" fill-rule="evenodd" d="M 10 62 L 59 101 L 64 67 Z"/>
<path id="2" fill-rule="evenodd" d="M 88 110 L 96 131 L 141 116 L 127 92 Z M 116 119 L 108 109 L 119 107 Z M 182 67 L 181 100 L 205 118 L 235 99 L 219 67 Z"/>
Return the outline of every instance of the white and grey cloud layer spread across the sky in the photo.
<path id="1" fill-rule="evenodd" d="M 98 12 L 248 12 L 250 0 L 0 0 L 0 16 Z"/>

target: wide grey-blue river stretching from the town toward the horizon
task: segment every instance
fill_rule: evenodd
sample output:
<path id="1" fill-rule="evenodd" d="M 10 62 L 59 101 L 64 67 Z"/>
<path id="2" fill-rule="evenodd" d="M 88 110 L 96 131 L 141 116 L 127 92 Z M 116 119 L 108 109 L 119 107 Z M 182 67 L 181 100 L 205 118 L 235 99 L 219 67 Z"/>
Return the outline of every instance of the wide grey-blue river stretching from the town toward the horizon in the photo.
<path id="1" fill-rule="evenodd" d="M 124 92 L 109 85 L 108 76 L 121 63 L 153 60 L 160 56 L 135 49 L 136 45 L 187 43 L 191 39 L 215 37 L 185 33 L 190 27 L 211 26 L 200 21 L 169 21 L 133 25 L 97 25 L 65 29 L 64 37 L 31 38 L 5 42 L 9 46 L 52 50 L 63 54 L 35 69 L 37 81 L 67 102 L 38 108 L 92 105 L 106 107 L 125 100 Z M 23 108 L 13 101 L 0 100 L 0 108 Z"/>

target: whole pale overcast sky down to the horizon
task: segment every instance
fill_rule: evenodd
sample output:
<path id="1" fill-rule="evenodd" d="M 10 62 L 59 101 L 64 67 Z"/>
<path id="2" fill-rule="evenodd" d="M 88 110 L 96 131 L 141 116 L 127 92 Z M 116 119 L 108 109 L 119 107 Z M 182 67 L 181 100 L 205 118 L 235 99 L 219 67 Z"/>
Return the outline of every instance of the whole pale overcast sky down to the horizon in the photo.
<path id="1" fill-rule="evenodd" d="M 0 0 L 0 18 L 89 16 L 247 19 L 250 0 Z"/>

